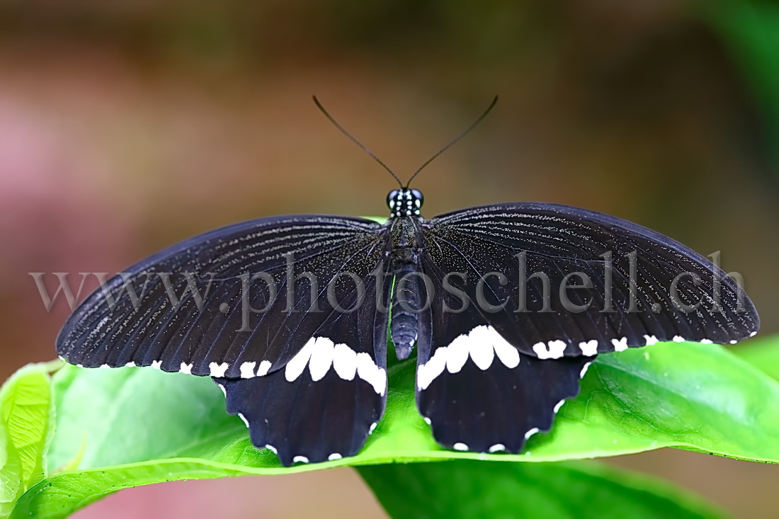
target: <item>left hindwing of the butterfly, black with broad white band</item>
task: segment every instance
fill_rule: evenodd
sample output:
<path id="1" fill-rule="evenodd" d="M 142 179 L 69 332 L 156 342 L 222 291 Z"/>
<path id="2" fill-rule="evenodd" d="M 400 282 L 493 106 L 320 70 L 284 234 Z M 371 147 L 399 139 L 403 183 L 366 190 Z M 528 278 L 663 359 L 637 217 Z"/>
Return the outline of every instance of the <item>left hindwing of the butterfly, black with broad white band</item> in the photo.
<path id="1" fill-rule="evenodd" d="M 369 284 L 354 312 L 333 312 L 284 369 L 251 379 L 214 379 L 227 411 L 249 426 L 252 443 L 284 465 L 354 456 L 386 403 L 387 313 L 392 277 Z M 377 290 L 378 289 L 378 290 Z M 353 308 L 357 294 L 345 298 Z"/>

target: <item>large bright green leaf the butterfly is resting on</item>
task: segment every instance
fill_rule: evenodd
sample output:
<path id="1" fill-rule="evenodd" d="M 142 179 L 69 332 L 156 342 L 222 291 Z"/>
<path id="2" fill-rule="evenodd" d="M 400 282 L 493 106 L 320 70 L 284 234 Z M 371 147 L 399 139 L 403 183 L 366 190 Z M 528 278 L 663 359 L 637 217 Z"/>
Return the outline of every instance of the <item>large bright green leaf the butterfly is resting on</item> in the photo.
<path id="1" fill-rule="evenodd" d="M 291 468 L 252 447 L 207 378 L 67 365 L 53 387 L 49 476 L 22 496 L 14 517 L 65 517 L 99 496 L 151 482 L 393 461 L 563 461 L 659 447 L 779 461 L 779 383 L 711 344 L 601 355 L 552 432 L 531 438 L 518 455 L 442 450 L 414 404 L 413 362 L 390 369 L 386 415 L 358 456 Z"/>

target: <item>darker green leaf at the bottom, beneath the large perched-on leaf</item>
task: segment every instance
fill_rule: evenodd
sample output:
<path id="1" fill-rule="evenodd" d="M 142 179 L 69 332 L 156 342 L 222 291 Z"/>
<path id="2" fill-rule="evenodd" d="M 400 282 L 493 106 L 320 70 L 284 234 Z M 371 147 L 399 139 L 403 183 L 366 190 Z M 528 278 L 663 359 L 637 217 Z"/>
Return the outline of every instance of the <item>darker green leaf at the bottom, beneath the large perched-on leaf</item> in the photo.
<path id="1" fill-rule="evenodd" d="M 594 463 L 460 460 L 358 471 L 390 517 L 724 517 L 667 482 Z"/>

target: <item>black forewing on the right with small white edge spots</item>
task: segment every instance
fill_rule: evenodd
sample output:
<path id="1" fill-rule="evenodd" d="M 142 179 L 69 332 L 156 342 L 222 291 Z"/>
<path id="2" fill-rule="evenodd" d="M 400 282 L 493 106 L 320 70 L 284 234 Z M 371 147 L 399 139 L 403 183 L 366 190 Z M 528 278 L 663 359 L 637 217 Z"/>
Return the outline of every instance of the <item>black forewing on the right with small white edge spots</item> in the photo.
<path id="1" fill-rule="evenodd" d="M 538 358 L 656 341 L 731 344 L 760 326 L 742 288 L 709 260 L 594 211 L 477 207 L 428 221 L 424 242 L 442 273 L 462 274 L 449 284 L 467 293 L 485 321 Z"/>

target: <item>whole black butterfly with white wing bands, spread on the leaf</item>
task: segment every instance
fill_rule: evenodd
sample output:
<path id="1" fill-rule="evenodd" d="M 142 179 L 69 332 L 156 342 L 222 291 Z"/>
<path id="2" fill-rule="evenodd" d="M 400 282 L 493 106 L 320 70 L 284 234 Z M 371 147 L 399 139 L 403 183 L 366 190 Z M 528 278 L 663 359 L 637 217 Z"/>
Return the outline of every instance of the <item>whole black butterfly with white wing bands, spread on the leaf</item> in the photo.
<path id="1" fill-rule="evenodd" d="M 416 348 L 435 440 L 516 453 L 595 355 L 759 327 L 731 277 L 640 225 L 549 203 L 426 220 L 398 183 L 384 224 L 262 218 L 136 263 L 76 309 L 58 354 L 212 376 L 252 443 L 289 465 L 361 449 L 385 407 L 388 333 L 398 358 Z"/>

